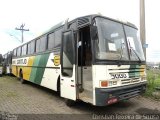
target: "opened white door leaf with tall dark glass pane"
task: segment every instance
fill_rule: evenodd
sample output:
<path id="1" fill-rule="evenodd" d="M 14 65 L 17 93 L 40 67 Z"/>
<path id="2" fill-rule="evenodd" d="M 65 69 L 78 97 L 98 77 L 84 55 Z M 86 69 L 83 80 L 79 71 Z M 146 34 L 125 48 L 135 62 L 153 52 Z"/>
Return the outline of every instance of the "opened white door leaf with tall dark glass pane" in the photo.
<path id="1" fill-rule="evenodd" d="M 62 33 L 61 48 L 61 96 L 76 100 L 76 64 L 75 64 L 75 40 L 72 30 Z"/>

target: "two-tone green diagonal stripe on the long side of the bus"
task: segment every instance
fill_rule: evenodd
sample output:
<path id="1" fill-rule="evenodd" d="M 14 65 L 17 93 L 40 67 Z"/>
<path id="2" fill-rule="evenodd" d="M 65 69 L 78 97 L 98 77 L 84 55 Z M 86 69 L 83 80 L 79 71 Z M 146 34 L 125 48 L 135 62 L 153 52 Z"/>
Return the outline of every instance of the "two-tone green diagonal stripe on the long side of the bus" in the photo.
<path id="1" fill-rule="evenodd" d="M 38 66 L 38 67 L 32 67 L 30 81 L 36 84 L 41 83 L 48 58 L 49 54 L 38 55 L 35 57 L 33 66 Z"/>

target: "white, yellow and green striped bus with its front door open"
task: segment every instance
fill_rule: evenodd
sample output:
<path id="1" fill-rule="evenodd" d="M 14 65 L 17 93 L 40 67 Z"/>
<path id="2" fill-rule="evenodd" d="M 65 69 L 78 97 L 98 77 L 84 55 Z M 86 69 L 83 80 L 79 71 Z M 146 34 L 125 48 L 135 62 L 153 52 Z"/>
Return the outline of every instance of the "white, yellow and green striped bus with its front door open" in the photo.
<path id="1" fill-rule="evenodd" d="M 66 20 L 12 51 L 13 75 L 58 91 L 68 106 L 144 93 L 145 67 L 137 27 L 101 15 Z"/>

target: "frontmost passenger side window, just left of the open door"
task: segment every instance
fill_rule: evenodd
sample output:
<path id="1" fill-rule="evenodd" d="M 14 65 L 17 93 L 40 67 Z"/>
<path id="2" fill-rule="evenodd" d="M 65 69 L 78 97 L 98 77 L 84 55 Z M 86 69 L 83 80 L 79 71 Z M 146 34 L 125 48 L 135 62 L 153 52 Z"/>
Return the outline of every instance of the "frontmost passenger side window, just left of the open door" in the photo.
<path id="1" fill-rule="evenodd" d="M 60 47 L 62 39 L 62 29 L 59 29 L 55 32 L 55 42 L 54 42 L 54 48 Z"/>

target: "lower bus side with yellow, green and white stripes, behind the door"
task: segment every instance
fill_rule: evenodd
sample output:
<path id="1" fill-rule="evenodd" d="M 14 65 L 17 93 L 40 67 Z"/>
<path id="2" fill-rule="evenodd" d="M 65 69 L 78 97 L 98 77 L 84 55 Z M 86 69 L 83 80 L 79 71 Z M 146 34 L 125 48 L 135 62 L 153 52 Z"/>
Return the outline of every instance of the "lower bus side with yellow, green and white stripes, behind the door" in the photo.
<path id="1" fill-rule="evenodd" d="M 19 63 L 17 61 L 27 61 Z M 54 53 L 17 58 L 13 60 L 12 73 L 19 77 L 23 71 L 23 79 L 57 91 L 57 80 L 60 75 L 60 56 Z"/>

